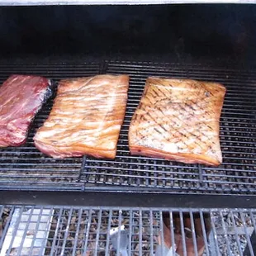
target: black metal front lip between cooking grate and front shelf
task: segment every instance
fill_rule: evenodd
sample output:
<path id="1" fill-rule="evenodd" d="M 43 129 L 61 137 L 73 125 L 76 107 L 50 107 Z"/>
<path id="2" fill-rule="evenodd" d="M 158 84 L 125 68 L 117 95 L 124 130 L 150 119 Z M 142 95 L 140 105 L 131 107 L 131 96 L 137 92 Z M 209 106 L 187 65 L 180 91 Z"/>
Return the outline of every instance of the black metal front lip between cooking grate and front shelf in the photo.
<path id="1" fill-rule="evenodd" d="M 2 205 L 256 208 L 255 197 L 130 192 L 0 191 Z"/>

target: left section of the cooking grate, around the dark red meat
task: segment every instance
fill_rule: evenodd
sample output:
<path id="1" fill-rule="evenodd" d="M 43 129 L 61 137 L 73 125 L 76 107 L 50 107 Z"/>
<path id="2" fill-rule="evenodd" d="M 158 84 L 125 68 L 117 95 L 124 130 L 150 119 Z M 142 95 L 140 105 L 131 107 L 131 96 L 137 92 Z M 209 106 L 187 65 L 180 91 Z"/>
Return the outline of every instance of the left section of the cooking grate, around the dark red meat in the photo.
<path id="1" fill-rule="evenodd" d="M 12 73 L 36 74 L 51 78 L 73 78 L 99 73 L 99 64 L 10 64 L 0 65 L 0 83 Z M 25 145 L 0 149 L 0 186 L 2 189 L 81 190 L 77 183 L 82 159 L 51 159 L 33 143 L 37 128 L 50 113 L 53 97 L 38 112 Z"/>

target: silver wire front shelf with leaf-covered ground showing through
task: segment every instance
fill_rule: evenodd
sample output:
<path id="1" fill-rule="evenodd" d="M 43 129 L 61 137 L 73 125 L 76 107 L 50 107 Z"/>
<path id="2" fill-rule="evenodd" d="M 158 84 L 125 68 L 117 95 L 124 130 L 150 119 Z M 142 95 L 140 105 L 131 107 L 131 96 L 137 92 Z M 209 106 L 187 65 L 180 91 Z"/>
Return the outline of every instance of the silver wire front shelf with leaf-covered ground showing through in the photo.
<path id="1" fill-rule="evenodd" d="M 0 206 L 0 220 L 1 256 L 118 255 L 110 230 L 116 228 L 120 241 L 121 225 L 128 255 L 256 252 L 256 210 Z"/>

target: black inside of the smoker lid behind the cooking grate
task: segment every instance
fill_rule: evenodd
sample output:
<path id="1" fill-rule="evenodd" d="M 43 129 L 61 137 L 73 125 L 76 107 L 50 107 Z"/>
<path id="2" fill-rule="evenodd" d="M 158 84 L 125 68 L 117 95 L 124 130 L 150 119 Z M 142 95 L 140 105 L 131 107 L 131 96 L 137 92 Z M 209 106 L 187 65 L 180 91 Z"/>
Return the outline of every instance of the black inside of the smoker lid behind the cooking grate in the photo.
<path id="1" fill-rule="evenodd" d="M 255 54 L 255 10 L 232 4 L 2 7 L 0 46 L 3 56 L 38 61 L 41 56 L 125 55 L 248 63 Z"/>

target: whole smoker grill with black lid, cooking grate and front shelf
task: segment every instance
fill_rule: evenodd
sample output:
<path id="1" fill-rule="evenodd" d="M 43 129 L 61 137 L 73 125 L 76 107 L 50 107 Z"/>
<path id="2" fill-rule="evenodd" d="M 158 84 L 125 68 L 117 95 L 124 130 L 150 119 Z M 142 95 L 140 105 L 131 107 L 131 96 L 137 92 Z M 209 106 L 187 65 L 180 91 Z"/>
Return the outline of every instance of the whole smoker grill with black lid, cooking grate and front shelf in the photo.
<path id="1" fill-rule="evenodd" d="M 198 23 L 198 15 L 205 22 Z M 0 256 L 118 255 L 109 231 L 121 225 L 129 255 L 154 255 L 158 248 L 165 255 L 164 242 L 173 256 L 173 244 L 181 255 L 254 255 L 255 27 L 254 5 L 0 7 L 0 83 L 13 73 L 55 84 L 99 73 L 130 75 L 116 159 L 52 159 L 36 149 L 33 136 L 55 93 L 36 115 L 26 144 L 0 149 Z M 149 76 L 225 85 L 223 164 L 130 155 L 130 119 Z"/>

